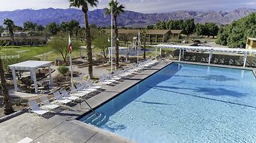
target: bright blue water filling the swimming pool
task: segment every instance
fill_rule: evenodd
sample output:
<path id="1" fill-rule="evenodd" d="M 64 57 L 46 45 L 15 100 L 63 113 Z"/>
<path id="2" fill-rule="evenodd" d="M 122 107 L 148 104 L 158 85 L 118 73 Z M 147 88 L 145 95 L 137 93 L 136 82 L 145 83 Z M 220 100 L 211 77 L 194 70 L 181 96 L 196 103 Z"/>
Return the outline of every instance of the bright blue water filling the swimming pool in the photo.
<path id="1" fill-rule="evenodd" d="M 171 63 L 80 119 L 135 142 L 256 142 L 252 71 Z"/>

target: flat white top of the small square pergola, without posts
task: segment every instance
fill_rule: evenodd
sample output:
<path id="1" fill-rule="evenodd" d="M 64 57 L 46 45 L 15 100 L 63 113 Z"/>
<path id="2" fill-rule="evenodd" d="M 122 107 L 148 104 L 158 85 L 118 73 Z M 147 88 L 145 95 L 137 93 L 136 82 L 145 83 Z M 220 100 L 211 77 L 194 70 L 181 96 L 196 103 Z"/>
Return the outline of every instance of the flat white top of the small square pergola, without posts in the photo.
<path id="1" fill-rule="evenodd" d="M 43 66 L 50 66 L 51 62 L 50 61 L 39 61 L 39 60 L 27 60 L 22 63 L 16 63 L 13 65 L 10 65 L 10 69 L 20 69 L 20 70 L 25 70 L 25 69 L 37 69 L 39 67 Z"/>

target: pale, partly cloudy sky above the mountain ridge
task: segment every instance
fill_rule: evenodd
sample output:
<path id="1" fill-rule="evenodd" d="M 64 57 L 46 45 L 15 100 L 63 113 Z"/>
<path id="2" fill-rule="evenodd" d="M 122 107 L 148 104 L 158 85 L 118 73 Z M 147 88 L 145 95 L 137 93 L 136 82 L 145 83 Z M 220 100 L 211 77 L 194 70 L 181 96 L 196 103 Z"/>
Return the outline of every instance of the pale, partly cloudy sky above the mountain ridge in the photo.
<path id="1" fill-rule="evenodd" d="M 127 10 L 140 13 L 168 13 L 178 10 L 229 11 L 237 8 L 254 8 L 256 0 L 119 0 Z M 107 7 L 108 0 L 99 0 L 99 7 Z M 53 7 L 68 8 L 68 0 L 1 0 L 0 11 L 35 10 Z M 93 10 L 93 9 L 91 9 Z"/>

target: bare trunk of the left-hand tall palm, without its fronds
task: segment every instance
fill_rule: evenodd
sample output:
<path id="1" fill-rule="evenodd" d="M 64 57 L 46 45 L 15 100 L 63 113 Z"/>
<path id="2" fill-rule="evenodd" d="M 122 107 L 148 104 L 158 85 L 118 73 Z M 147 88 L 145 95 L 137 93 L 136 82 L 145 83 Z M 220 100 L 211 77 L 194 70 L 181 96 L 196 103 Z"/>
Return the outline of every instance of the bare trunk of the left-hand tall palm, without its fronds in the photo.
<path id="1" fill-rule="evenodd" d="M 91 49 L 91 30 L 88 24 L 88 6 L 82 7 L 82 11 L 85 14 L 85 38 L 86 38 L 86 48 L 88 57 L 88 75 L 89 78 L 93 78 L 93 52 Z"/>

